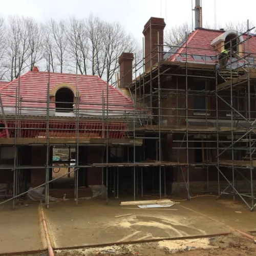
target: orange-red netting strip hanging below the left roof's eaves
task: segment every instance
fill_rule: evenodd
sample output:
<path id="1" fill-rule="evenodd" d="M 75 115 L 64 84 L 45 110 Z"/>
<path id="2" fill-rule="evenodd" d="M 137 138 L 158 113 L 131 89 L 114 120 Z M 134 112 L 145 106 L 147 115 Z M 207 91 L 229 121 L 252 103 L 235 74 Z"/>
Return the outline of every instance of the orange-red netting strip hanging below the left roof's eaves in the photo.
<path id="1" fill-rule="evenodd" d="M 5 123 L 0 121 L 0 138 L 6 138 L 7 132 Z M 8 132 L 11 138 L 15 137 L 15 121 L 7 121 Z M 19 138 L 46 138 L 46 121 L 17 121 L 16 136 Z M 79 122 L 79 138 L 108 138 L 121 139 L 127 128 L 126 123 L 106 123 L 102 122 Z M 108 131 L 108 132 L 107 132 Z M 76 138 L 76 122 L 49 122 L 49 137 L 51 138 Z"/>

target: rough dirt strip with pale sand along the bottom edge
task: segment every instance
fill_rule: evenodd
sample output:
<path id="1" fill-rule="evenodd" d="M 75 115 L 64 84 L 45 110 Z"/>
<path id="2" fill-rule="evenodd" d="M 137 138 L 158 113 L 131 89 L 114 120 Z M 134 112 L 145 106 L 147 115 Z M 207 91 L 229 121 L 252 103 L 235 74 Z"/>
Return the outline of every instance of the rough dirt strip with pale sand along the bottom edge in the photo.
<path id="1" fill-rule="evenodd" d="M 56 256 L 96 256 L 96 255 L 143 255 L 163 256 L 168 254 L 184 256 L 247 256 L 255 255 L 256 245 L 240 234 L 228 236 L 190 239 L 190 240 L 163 240 L 159 242 L 140 243 L 77 250 L 56 250 Z M 42 256 L 42 254 L 40 255 Z"/>

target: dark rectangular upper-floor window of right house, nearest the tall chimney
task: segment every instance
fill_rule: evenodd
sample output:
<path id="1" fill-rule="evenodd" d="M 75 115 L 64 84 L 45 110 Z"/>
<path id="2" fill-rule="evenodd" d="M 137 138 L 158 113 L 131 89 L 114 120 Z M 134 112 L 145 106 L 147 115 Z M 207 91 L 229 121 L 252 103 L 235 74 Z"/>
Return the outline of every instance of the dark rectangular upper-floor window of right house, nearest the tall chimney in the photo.
<path id="1" fill-rule="evenodd" d="M 194 115 L 207 114 L 206 81 L 194 80 Z"/>

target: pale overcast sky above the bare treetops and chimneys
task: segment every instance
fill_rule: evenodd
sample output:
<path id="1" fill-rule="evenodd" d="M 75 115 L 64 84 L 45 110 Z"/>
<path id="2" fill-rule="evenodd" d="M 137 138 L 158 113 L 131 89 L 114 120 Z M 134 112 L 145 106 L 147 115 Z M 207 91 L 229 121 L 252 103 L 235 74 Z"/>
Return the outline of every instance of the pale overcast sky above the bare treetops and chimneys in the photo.
<path id="1" fill-rule="evenodd" d="M 203 24 L 214 26 L 214 2 L 202 0 Z M 216 0 L 216 10 L 217 24 L 247 19 L 256 24 L 255 0 Z M 192 18 L 191 0 L 0 0 L 0 15 L 4 17 L 19 14 L 44 22 L 50 17 L 62 19 L 75 15 L 79 18 L 90 13 L 121 23 L 141 41 L 143 26 L 152 16 L 164 18 L 167 27 L 185 21 L 191 23 Z"/>

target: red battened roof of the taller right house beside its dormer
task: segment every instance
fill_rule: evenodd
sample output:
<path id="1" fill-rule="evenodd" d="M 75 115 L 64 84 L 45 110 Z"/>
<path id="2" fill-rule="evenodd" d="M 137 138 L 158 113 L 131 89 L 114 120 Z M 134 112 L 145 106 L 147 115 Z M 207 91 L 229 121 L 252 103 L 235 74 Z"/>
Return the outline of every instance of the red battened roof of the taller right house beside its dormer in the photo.
<path id="1" fill-rule="evenodd" d="M 201 56 L 211 56 L 215 57 L 218 55 L 215 47 L 211 46 L 211 41 L 214 40 L 217 36 L 223 34 L 225 31 L 218 30 L 206 30 L 206 29 L 196 29 L 193 31 L 187 38 L 187 61 L 197 61 L 191 56 L 191 54 L 198 54 Z M 244 39 L 247 38 L 247 35 L 243 35 Z M 183 44 L 182 47 L 185 47 L 186 44 Z M 192 48 L 192 49 L 191 49 Z M 244 51 L 244 46 L 242 45 L 242 51 Z M 247 42 L 245 42 L 245 51 L 247 52 Z M 256 36 L 253 35 L 249 39 L 249 51 L 256 54 Z M 186 56 L 181 54 L 186 54 L 185 48 L 180 48 L 177 53 L 168 57 L 169 61 L 177 61 L 176 56 L 181 58 L 182 61 L 186 60 Z M 178 58 L 178 59 L 179 59 Z M 203 60 L 201 60 L 203 61 Z M 208 62 L 214 62 L 214 59 L 211 59 Z M 206 60 L 207 62 L 207 60 Z"/>

